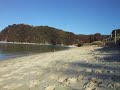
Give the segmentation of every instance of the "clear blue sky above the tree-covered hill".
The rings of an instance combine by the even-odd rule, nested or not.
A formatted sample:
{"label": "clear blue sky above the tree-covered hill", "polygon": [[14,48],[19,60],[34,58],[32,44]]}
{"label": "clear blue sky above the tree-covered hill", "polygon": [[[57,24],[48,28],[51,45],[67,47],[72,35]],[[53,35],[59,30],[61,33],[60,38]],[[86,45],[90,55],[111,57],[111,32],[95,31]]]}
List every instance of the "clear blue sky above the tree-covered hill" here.
{"label": "clear blue sky above the tree-covered hill", "polygon": [[19,23],[110,34],[120,28],[120,0],[0,0],[0,30]]}

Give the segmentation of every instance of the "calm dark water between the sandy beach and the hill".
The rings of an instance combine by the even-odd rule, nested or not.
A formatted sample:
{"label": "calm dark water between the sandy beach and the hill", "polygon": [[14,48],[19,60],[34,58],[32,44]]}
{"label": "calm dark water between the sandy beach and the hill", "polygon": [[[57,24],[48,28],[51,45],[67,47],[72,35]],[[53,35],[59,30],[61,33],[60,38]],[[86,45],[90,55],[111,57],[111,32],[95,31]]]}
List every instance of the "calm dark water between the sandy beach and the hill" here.
{"label": "calm dark water between the sandy beach and the hill", "polygon": [[54,45],[31,45],[31,44],[5,44],[0,43],[0,60],[4,60],[11,57],[53,52],[58,50],[64,50],[67,47],[54,46]]}

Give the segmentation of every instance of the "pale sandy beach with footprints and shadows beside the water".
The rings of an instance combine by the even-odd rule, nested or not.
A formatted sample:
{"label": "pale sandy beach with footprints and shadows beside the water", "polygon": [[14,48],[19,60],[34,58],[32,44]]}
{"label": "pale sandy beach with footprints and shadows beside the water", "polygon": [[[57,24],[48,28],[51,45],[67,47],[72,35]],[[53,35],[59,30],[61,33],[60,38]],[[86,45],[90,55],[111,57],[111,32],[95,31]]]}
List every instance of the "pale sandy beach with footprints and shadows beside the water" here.
{"label": "pale sandy beach with footprints and shadows beside the water", "polygon": [[120,48],[83,46],[0,61],[0,90],[120,90]]}

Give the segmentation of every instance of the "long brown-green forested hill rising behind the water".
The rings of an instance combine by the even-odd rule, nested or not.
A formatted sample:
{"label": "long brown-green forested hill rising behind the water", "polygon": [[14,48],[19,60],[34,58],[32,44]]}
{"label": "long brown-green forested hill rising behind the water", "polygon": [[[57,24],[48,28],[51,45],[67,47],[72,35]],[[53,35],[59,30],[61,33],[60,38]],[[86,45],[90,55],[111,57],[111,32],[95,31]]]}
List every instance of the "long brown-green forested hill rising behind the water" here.
{"label": "long brown-green forested hill rising behind the water", "polygon": [[107,36],[100,33],[94,35],[76,35],[48,26],[31,26],[26,24],[13,24],[0,33],[0,40],[7,42],[29,42],[44,44],[72,45],[80,42],[93,42],[102,40]]}

